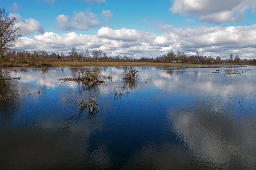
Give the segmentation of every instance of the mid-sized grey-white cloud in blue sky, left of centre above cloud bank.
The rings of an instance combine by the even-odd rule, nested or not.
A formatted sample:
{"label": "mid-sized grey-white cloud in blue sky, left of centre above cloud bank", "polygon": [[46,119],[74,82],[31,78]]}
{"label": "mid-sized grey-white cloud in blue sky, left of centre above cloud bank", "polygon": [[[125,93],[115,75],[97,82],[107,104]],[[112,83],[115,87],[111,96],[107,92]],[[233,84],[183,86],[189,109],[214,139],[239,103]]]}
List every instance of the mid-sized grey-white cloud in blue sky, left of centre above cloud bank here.
{"label": "mid-sized grey-white cloud in blue sky, left of centre above cloud bank", "polygon": [[71,19],[68,15],[61,14],[56,17],[57,23],[61,30],[88,30],[102,25],[102,22],[97,19],[97,14],[94,14],[90,9],[86,11],[75,12]]}

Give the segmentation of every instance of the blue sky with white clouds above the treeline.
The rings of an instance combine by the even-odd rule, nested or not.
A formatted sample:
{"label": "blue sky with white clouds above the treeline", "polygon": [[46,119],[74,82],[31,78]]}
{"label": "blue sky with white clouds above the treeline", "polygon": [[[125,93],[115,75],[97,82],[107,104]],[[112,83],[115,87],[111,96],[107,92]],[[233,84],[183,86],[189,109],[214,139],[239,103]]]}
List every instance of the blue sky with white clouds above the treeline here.
{"label": "blue sky with white clouds above the treeline", "polygon": [[22,27],[18,50],[256,57],[255,0],[4,0],[0,6]]}

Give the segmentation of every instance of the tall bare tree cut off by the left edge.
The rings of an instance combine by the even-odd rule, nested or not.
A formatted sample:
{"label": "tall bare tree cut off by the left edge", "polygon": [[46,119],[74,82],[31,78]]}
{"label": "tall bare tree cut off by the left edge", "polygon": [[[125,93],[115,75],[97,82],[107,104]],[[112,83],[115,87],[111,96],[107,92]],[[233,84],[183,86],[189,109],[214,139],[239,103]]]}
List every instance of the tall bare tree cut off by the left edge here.
{"label": "tall bare tree cut off by the left edge", "polygon": [[21,42],[21,27],[17,26],[18,22],[15,17],[10,17],[4,8],[0,8],[0,62],[5,54],[15,47],[17,41]]}

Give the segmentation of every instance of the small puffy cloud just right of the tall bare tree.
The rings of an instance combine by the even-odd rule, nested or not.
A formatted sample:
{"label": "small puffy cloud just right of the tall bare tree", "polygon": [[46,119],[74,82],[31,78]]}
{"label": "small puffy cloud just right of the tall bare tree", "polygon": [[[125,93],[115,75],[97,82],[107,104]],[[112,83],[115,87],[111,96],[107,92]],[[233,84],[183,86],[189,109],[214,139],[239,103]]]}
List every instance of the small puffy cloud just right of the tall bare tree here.
{"label": "small puffy cloud just right of the tall bare tree", "polygon": [[41,27],[39,22],[35,20],[34,18],[25,19],[25,22],[22,22],[23,18],[15,13],[15,14],[9,14],[10,16],[16,17],[19,21],[17,23],[18,27],[22,27],[21,33],[22,35],[29,35],[33,32],[39,32],[40,34],[44,33],[44,29]]}

